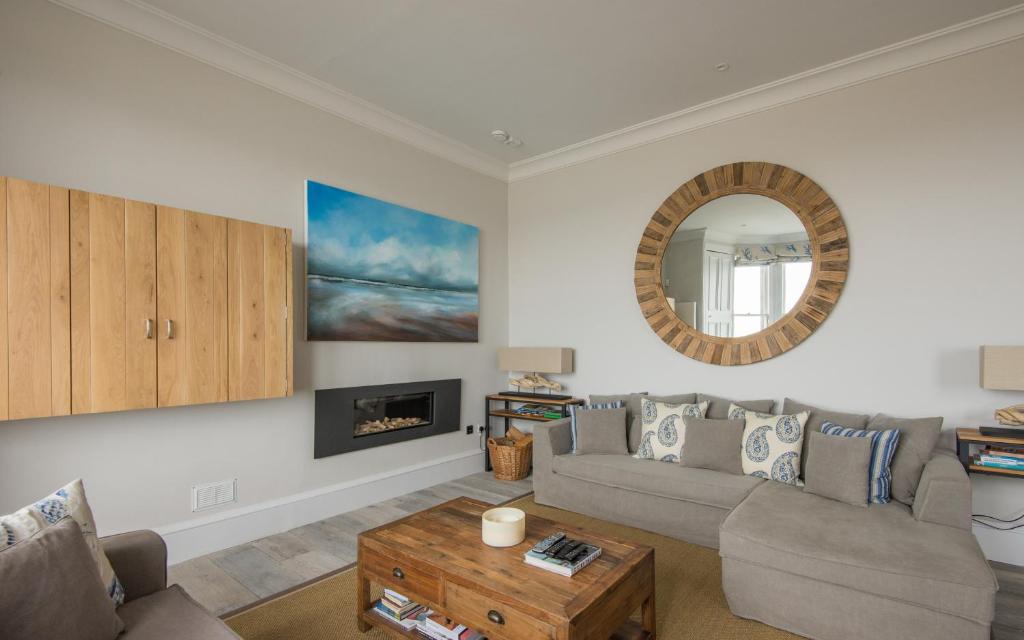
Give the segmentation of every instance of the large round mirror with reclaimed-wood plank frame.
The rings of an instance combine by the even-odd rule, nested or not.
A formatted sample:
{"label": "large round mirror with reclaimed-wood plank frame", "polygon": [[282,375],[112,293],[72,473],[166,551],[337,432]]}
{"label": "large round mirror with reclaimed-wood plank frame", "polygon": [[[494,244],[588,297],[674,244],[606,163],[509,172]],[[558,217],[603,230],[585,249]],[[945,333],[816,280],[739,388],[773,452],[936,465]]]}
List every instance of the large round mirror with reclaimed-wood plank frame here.
{"label": "large round mirror with reclaimed-wood plank frame", "polygon": [[[701,228],[687,228],[687,218],[698,210],[715,213],[723,230],[712,233],[703,221],[696,225]],[[745,214],[772,221],[768,230],[778,242],[768,248],[770,262],[735,259],[745,229],[731,221]],[[804,244],[810,246],[809,260]],[[708,267],[700,266],[705,258]],[[637,247],[636,297],[651,330],[671,348],[712,365],[749,365],[784,353],[814,333],[839,300],[849,260],[846,225],[824,189],[781,165],[738,162],[694,176],[654,212]],[[696,264],[700,278],[684,264]],[[769,290],[765,296],[757,286],[765,276],[790,283],[792,290],[783,285],[775,288],[781,295]],[[719,299],[703,291],[730,293]],[[732,294],[739,292],[749,295],[743,308],[733,308]],[[697,326],[673,310],[669,295],[677,309],[697,302]]]}

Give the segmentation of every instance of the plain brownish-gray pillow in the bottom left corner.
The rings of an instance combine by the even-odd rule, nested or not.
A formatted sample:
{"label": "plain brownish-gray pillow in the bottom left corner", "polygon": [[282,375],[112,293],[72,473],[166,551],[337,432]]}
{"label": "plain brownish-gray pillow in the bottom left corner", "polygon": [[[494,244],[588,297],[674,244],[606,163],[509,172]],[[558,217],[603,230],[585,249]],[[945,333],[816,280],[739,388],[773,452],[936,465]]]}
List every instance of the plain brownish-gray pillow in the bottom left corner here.
{"label": "plain brownish-gray pillow in the bottom left corner", "polygon": [[0,638],[113,640],[124,629],[70,516],[0,551]]}

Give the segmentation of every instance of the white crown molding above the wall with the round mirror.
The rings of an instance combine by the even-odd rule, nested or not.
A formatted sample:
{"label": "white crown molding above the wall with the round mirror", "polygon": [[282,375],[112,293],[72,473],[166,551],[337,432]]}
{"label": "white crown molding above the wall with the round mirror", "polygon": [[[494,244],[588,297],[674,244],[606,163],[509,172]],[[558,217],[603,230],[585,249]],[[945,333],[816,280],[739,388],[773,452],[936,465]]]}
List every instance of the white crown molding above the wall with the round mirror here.
{"label": "white crown molding above the wall with the round mirror", "polygon": [[509,166],[509,181],[845,89],[1024,37],[1024,4],[696,104]]}

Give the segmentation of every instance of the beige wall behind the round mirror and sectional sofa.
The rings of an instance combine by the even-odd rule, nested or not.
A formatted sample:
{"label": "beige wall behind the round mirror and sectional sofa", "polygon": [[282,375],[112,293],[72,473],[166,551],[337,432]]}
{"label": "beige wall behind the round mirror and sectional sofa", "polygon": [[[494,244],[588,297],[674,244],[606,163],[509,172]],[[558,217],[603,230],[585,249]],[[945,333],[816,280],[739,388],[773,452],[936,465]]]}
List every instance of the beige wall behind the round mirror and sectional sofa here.
{"label": "beige wall behind the round mirror and sectional sofa", "polygon": [[[512,344],[575,348],[582,393],[707,391],[837,409],[991,422],[1024,394],[978,384],[978,346],[1024,343],[1024,41],[514,182]],[[773,360],[683,357],[644,322],[637,243],[693,175],[765,160],[802,171],[841,207],[850,280],[833,315]],[[571,242],[537,242],[537,229]],[[965,268],[965,264],[969,268]],[[530,299],[558,300],[539,312]],[[975,511],[1018,515],[1021,484],[976,478]],[[979,534],[1024,564],[1024,540]]]}

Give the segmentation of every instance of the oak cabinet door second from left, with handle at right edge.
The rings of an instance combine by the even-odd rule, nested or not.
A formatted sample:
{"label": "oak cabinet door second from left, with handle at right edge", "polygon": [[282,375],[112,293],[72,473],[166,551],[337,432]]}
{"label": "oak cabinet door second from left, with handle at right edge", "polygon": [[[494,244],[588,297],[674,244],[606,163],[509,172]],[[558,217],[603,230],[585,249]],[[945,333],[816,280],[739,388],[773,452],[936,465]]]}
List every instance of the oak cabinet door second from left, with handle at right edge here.
{"label": "oak cabinet door second from left, with handle at right edge", "polygon": [[74,191],[73,413],[157,403],[156,208]]}

